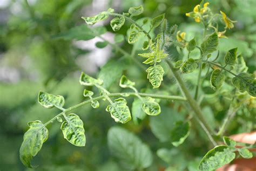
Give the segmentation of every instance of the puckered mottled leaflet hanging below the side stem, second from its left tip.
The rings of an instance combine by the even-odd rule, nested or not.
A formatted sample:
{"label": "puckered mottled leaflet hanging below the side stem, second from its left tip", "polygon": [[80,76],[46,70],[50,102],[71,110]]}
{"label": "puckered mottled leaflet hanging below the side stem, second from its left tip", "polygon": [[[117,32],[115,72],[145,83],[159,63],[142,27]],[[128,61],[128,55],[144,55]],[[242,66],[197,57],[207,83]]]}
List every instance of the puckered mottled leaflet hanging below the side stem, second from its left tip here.
{"label": "puckered mottled leaflet hanging below the side stem, second from its left tip", "polygon": [[69,114],[65,117],[66,121],[62,122],[64,138],[72,145],[82,147],[85,146],[86,138],[84,134],[84,123],[76,114]]}

